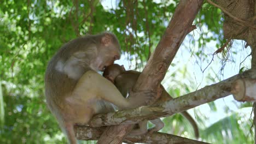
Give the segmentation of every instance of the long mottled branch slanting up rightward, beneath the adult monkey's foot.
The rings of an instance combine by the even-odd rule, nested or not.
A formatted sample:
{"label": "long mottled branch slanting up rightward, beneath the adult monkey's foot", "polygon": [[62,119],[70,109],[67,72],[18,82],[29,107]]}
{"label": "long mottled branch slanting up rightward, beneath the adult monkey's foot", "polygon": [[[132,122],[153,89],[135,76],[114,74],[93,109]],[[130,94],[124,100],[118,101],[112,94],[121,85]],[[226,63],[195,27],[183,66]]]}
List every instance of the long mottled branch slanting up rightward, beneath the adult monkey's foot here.
{"label": "long mottled branch slanting up rightward, beneath the adult monkey's foot", "polygon": [[245,71],[214,85],[206,86],[195,92],[185,94],[182,97],[166,101],[159,105],[141,106],[134,110],[99,114],[91,119],[89,125],[90,127],[102,127],[106,125],[131,124],[141,122],[145,119],[171,116],[174,113],[182,112],[230,95],[232,85],[235,81],[246,78],[255,79],[256,70]]}

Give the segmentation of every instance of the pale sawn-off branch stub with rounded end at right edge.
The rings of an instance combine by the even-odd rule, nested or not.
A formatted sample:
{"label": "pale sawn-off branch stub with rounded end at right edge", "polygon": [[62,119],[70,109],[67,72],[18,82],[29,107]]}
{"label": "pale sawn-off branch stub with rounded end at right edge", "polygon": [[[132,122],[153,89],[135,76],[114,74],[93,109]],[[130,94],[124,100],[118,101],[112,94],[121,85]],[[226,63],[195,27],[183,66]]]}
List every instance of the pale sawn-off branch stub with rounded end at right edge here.
{"label": "pale sawn-off branch stub with rounded end at right edge", "polygon": [[256,79],[239,79],[232,84],[231,93],[237,101],[256,102]]}

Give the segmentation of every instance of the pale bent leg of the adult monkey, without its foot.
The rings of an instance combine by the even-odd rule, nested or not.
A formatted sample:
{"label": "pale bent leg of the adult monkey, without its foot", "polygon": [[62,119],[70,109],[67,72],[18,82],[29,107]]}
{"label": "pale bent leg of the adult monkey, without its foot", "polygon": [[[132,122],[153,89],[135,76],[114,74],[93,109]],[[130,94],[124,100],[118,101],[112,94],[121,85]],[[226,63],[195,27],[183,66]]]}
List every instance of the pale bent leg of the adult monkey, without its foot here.
{"label": "pale bent leg of the adult monkey, without its foot", "polygon": [[132,106],[113,83],[92,70],[87,71],[79,79],[73,93],[77,99],[89,103],[90,101],[103,99],[123,109]]}

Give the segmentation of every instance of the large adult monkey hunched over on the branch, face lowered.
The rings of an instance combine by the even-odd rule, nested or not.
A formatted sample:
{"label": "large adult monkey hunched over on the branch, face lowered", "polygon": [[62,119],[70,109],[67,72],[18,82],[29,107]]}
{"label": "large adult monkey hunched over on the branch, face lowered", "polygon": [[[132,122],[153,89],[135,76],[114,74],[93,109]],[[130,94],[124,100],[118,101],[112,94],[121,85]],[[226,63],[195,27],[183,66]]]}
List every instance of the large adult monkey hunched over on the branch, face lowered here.
{"label": "large adult monkey hunched over on the branch, face lowered", "polygon": [[[113,83],[97,70],[120,58],[120,45],[112,33],[88,35],[69,41],[51,58],[45,72],[46,103],[70,143],[75,144],[74,125],[84,125],[96,113],[134,108],[139,101],[125,99]],[[150,99],[155,93],[142,94]],[[137,97],[139,98],[139,97]],[[110,102],[110,103],[108,103]]]}

